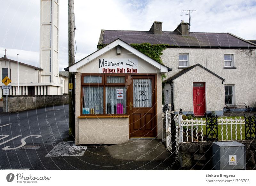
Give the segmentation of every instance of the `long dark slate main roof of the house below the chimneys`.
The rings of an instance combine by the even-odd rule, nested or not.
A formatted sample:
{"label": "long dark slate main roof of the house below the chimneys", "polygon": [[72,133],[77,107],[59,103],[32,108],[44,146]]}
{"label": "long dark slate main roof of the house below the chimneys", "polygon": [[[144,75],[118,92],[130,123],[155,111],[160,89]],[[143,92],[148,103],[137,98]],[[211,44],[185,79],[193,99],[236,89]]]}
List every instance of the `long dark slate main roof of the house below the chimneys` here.
{"label": "long dark slate main roof of the house below the chimneys", "polygon": [[98,44],[108,44],[117,38],[128,44],[169,44],[169,47],[181,48],[256,48],[256,44],[231,33],[190,32],[189,35],[180,35],[178,32],[153,34],[152,31],[130,30],[101,30]]}

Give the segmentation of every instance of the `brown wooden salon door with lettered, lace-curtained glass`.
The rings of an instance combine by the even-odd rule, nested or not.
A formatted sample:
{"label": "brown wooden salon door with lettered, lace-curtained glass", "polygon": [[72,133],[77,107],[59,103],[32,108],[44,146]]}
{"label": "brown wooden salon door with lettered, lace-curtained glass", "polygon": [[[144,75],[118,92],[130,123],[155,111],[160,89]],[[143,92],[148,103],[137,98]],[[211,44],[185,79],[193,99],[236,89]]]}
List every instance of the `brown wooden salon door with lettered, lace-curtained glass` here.
{"label": "brown wooden salon door with lettered, lace-curtained glass", "polygon": [[132,76],[130,137],[156,137],[155,76]]}

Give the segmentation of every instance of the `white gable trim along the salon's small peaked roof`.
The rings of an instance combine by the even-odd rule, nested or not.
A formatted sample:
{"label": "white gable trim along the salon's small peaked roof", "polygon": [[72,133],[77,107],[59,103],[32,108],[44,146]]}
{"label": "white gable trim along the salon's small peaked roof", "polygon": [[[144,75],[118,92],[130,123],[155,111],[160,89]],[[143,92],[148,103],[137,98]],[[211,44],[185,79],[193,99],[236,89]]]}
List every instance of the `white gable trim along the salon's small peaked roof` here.
{"label": "white gable trim along the salon's small peaked roof", "polygon": [[147,55],[141,53],[139,50],[133,48],[131,45],[125,43],[121,39],[116,39],[116,40],[112,41],[111,43],[109,43],[107,46],[103,47],[102,49],[96,50],[95,52],[93,52],[89,56],[86,56],[85,58],[81,59],[80,61],[77,61],[74,65],[69,66],[69,70],[68,71],[69,72],[77,72],[77,69],[79,69],[82,66],[90,63],[95,58],[98,58],[99,56],[101,56],[102,54],[108,52],[109,50],[113,49],[116,46],[121,46],[124,49],[130,51],[132,54],[136,55],[137,57],[145,60],[150,65],[156,67],[159,70],[160,73],[168,72],[168,69],[170,71],[169,67],[161,65],[160,63],[158,63],[154,59],[149,58]]}

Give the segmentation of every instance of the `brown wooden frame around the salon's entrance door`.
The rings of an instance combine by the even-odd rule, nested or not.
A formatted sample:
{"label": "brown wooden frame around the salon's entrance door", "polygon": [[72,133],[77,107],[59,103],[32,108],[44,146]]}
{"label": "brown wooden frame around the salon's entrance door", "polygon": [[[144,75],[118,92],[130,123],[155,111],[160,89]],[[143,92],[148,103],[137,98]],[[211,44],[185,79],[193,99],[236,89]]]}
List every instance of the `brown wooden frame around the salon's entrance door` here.
{"label": "brown wooden frame around the salon's entrance door", "polygon": [[[129,107],[131,106],[130,103],[132,102],[132,105],[133,105],[133,97],[131,97],[131,91],[133,91],[133,78],[132,77],[136,77],[136,78],[145,78],[145,77],[148,77],[148,76],[154,76],[153,78],[155,79],[155,89],[153,89],[153,84],[152,84],[152,90],[155,91],[155,97],[154,97],[154,101],[155,101],[155,104],[153,102],[153,99],[152,99],[152,105],[154,104],[155,106],[155,123],[156,123],[156,130],[155,130],[155,138],[157,137],[158,135],[158,132],[157,132],[157,74],[129,74],[128,76],[128,79],[130,79],[132,81],[132,83],[129,85],[129,88],[128,88],[128,93],[127,93],[127,103],[129,105]],[[132,85],[132,86],[131,86]],[[131,90],[132,89],[132,90]],[[152,97],[153,98],[153,97]],[[131,117],[132,117],[132,113],[131,113],[131,110],[130,109],[127,109],[129,110],[129,139],[131,138]]]}

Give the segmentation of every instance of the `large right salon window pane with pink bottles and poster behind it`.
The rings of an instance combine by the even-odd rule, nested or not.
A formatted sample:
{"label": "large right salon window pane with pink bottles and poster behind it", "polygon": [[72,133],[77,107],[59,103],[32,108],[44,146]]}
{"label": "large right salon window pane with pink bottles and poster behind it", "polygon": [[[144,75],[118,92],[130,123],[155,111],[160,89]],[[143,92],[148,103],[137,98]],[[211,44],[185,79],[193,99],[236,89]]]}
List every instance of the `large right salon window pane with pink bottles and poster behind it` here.
{"label": "large right salon window pane with pink bottles and poster behind it", "polygon": [[125,114],[126,111],[125,87],[106,87],[106,113]]}

